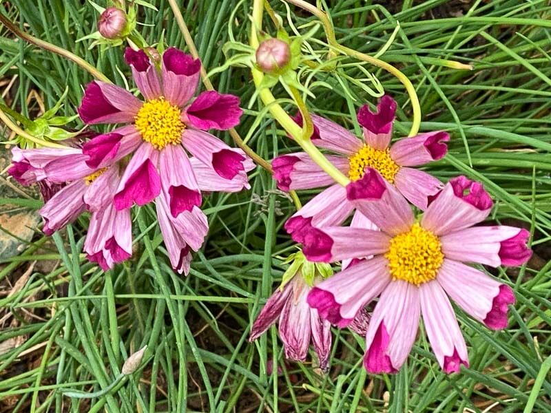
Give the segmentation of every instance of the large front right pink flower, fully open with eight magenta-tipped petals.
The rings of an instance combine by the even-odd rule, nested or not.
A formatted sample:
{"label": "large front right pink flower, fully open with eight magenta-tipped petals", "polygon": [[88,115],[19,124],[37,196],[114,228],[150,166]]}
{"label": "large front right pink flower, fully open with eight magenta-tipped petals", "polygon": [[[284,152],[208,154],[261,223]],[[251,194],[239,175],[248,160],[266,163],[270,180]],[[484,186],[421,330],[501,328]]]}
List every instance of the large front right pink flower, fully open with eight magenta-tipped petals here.
{"label": "large front right pink flower, fully open with eight magenta-tipped petals", "polygon": [[423,316],[427,336],[446,373],[468,366],[466,343],[450,299],[488,328],[507,326],[514,293],[466,264],[521,265],[532,251],[526,229],[473,226],[488,217],[490,195],[479,182],[450,180],[415,220],[410,205],[375,169],[346,187],[346,198],[380,228],[331,226],[318,230],[321,244],[306,240],[311,261],[371,257],[324,280],[307,301],[343,327],[379,297],[366,332],[364,366],[369,372],[397,372],[408,357]]}

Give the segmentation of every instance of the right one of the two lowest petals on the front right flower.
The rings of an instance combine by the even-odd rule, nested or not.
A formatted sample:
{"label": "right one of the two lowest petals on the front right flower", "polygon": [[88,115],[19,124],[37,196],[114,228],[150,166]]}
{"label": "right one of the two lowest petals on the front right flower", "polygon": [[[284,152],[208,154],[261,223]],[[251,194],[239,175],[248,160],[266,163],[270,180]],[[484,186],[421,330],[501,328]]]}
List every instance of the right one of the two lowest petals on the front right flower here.
{"label": "right one of the two lowest petals on the front right flower", "polygon": [[426,334],[436,359],[444,372],[458,373],[460,365],[468,367],[469,362],[465,339],[450,300],[435,280],[419,286],[419,293]]}

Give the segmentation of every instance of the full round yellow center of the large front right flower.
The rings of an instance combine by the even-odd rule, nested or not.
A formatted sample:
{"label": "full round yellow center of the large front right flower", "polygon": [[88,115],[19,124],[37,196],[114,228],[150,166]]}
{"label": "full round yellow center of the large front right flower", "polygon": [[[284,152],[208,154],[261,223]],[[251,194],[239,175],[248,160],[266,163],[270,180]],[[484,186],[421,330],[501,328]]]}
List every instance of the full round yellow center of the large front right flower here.
{"label": "full round yellow center of the large front right flower", "polygon": [[416,286],[435,279],[444,262],[440,240],[419,223],[393,237],[384,256],[393,279],[403,279]]}

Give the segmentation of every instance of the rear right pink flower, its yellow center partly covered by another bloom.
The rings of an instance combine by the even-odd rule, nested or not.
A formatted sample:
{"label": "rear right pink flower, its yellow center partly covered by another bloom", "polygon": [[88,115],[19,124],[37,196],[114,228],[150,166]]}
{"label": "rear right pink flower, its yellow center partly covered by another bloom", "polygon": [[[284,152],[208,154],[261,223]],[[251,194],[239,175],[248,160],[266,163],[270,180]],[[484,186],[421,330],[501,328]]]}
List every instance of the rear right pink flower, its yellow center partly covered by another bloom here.
{"label": "rear right pink flower, its yellow center partly covered by another bloom", "polygon": [[[327,158],[351,181],[360,180],[366,168],[377,169],[410,202],[425,210],[428,199],[440,191],[442,184],[413,167],[443,158],[450,136],[444,131],[428,132],[402,138],[389,147],[395,112],[396,102],[388,95],[381,98],[376,113],[364,105],[357,114],[364,129],[363,140],[336,123],[313,115],[311,139],[318,147],[337,153]],[[295,121],[302,125],[300,112]],[[285,224],[296,242],[312,236],[309,233],[315,227],[342,223],[353,211],[354,205],[346,198],[346,190],[335,184],[306,153],[279,156],[272,161],[272,167],[278,187],[283,191],[329,186]]]}

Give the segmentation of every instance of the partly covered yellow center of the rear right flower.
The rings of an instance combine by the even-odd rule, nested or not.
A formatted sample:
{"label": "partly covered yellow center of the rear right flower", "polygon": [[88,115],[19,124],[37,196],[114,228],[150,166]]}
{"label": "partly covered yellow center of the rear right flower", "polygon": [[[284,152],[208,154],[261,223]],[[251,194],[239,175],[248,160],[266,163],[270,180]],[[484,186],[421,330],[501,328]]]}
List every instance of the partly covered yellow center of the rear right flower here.
{"label": "partly covered yellow center of the rear right flower", "polygon": [[364,145],[362,149],[351,156],[349,164],[349,178],[352,181],[362,179],[366,167],[371,167],[377,169],[384,179],[393,184],[394,177],[400,169],[391,158],[391,151],[389,149],[380,151],[368,145]]}

